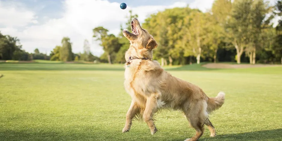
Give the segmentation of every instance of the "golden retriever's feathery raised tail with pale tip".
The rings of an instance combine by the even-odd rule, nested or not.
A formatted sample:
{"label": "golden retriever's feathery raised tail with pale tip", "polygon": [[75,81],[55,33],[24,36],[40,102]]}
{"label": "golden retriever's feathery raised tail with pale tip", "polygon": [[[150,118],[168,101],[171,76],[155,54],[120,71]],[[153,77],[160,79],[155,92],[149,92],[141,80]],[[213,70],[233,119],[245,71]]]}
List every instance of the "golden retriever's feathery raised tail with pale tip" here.
{"label": "golden retriever's feathery raised tail with pale tip", "polygon": [[217,94],[217,97],[209,98],[208,107],[207,107],[208,113],[211,113],[212,111],[219,109],[224,104],[224,100],[225,100],[225,93],[223,91],[220,91]]}

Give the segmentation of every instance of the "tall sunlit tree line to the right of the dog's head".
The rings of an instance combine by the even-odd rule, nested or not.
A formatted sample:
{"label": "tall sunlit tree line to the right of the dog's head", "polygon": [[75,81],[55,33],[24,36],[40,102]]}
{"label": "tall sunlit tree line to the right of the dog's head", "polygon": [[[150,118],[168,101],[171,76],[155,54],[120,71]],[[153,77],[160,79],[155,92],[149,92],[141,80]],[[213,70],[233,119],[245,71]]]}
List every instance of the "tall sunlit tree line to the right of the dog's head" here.
{"label": "tall sunlit tree line to the right of the dog's head", "polygon": [[263,0],[216,0],[206,13],[185,7],[153,14],[143,28],[161,46],[155,58],[170,64],[275,63],[282,61],[282,22],[273,27],[271,20],[281,11],[281,1],[272,7]]}

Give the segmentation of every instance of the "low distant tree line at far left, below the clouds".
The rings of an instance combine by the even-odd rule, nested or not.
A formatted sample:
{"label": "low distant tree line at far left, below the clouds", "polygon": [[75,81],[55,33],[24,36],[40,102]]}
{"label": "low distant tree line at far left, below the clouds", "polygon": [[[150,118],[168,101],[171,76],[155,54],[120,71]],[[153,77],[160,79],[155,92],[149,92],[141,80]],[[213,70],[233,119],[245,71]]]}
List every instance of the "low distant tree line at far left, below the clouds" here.
{"label": "low distant tree line at far left, below the clouds", "polygon": [[70,38],[64,37],[61,40],[61,46],[55,46],[55,48],[47,53],[39,52],[36,48],[33,53],[26,52],[22,49],[22,45],[19,43],[19,39],[11,37],[10,35],[2,35],[0,32],[0,60],[19,60],[19,61],[30,61],[30,60],[54,60],[54,61],[94,61],[99,60],[97,56],[94,56],[90,52],[90,44],[88,40],[84,41],[84,52],[73,53],[71,47]]}

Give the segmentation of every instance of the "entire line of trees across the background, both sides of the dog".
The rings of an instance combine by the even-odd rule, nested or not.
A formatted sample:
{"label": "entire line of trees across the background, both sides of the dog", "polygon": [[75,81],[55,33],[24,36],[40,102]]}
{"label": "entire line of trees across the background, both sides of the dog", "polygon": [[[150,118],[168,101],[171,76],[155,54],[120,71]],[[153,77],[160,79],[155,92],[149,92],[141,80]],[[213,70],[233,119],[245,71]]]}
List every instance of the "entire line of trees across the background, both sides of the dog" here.
{"label": "entire line of trees across the background, both sides of the dog", "polygon": [[[207,12],[187,6],[152,14],[142,27],[158,42],[154,59],[162,65],[199,64],[202,61],[281,63],[282,21],[274,27],[271,20],[275,17],[282,17],[281,1],[270,6],[263,0],[215,0]],[[100,57],[92,55],[87,40],[84,52],[75,54],[70,38],[64,37],[61,46],[55,46],[47,57],[39,51],[31,55],[17,44],[19,39],[0,34],[0,59],[26,60],[37,55],[50,60],[125,63],[129,41],[123,37],[122,30],[129,27],[133,18],[138,15],[129,11],[128,21],[120,25],[117,36],[109,34],[102,26],[93,29],[93,38],[104,50]]]}

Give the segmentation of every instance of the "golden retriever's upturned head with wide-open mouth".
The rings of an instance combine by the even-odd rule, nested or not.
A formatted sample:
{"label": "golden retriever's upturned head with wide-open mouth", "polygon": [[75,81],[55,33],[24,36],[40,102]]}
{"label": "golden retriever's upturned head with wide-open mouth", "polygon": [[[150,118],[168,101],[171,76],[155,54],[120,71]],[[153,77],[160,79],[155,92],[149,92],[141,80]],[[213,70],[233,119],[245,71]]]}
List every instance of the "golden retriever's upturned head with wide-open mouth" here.
{"label": "golden retriever's upturned head with wide-open mouth", "polygon": [[135,18],[131,21],[132,33],[127,30],[123,31],[123,35],[130,41],[131,45],[136,49],[152,50],[158,47],[157,42],[145,29],[140,26],[139,21]]}

